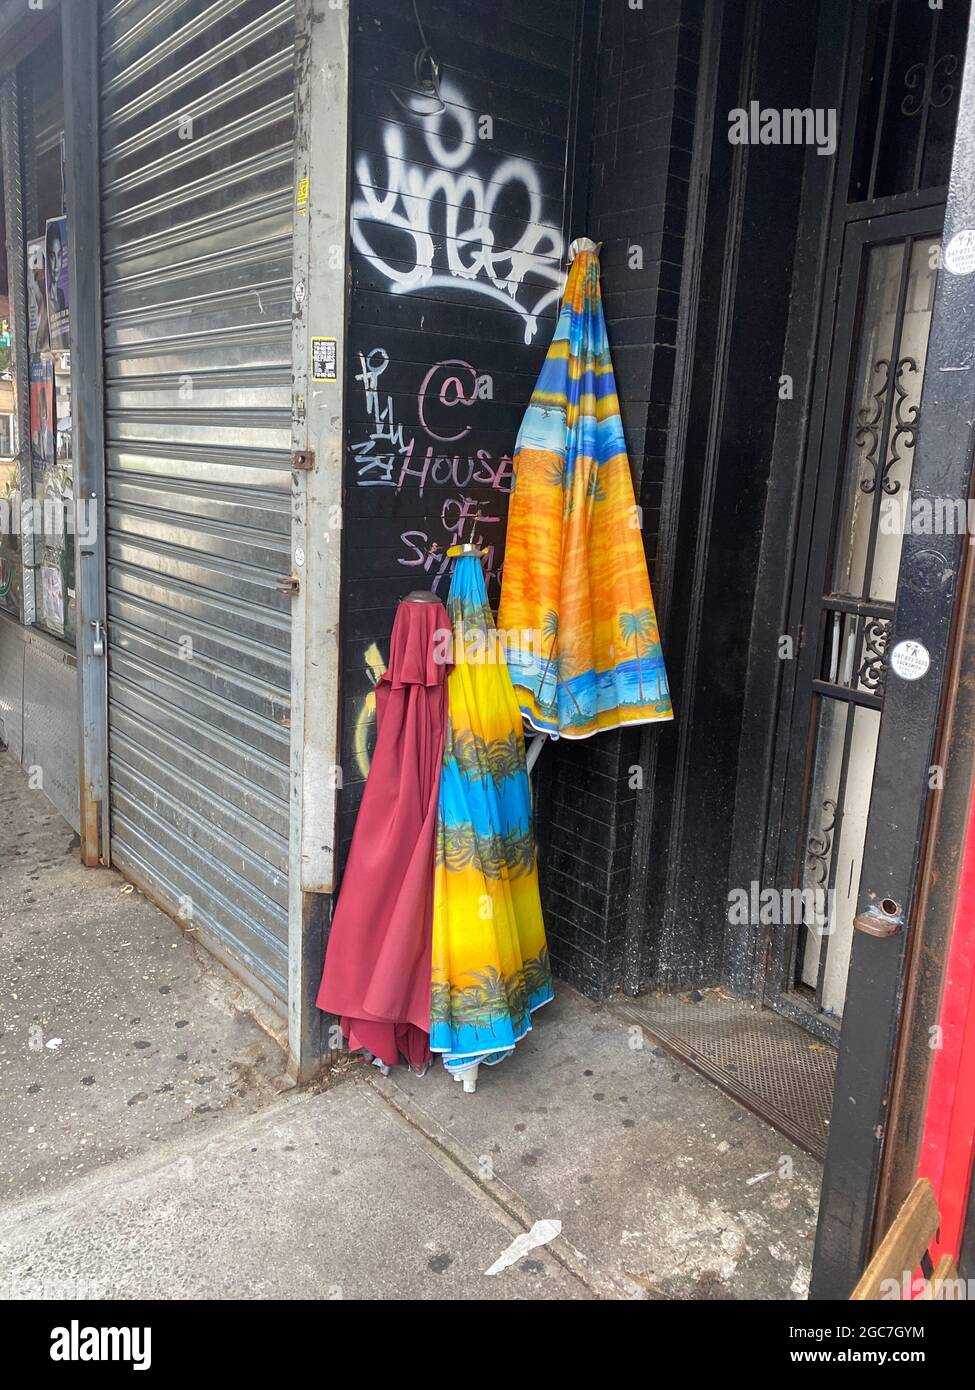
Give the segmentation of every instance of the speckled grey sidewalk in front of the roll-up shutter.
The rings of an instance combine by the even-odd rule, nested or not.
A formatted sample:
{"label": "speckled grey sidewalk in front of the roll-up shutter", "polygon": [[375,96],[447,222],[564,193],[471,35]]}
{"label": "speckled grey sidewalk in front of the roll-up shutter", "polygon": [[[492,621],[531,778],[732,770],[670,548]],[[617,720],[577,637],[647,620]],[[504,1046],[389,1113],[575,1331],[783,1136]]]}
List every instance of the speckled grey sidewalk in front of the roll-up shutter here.
{"label": "speckled grey sidewalk in front of the roll-up shutter", "polygon": [[[0,753],[0,1198],[275,1098],[256,1001]],[[267,1020],[266,1020],[267,1022]]]}

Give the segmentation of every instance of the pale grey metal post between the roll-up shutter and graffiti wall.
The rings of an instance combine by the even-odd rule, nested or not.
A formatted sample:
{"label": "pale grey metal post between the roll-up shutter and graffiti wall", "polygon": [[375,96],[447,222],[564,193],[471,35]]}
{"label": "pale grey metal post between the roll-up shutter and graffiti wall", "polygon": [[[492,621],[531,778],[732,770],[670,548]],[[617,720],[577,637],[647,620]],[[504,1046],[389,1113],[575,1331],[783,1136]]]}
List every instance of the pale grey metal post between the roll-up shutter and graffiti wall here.
{"label": "pale grey metal post between the roll-up shutter and graffiti wall", "polygon": [[[338,1044],[317,1008],[338,867],[345,360],[349,324],[349,7],[295,6],[288,1070]],[[316,334],[334,363],[316,375]],[[323,339],[319,339],[321,342]]]}

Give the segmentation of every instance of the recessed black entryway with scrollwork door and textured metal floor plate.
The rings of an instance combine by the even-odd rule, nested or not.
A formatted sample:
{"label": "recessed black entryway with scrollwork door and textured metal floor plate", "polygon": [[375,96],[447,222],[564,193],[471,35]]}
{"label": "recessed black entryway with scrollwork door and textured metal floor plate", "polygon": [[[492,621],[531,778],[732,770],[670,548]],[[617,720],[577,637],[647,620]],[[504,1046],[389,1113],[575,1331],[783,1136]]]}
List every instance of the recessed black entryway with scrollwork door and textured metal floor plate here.
{"label": "recessed black entryway with scrollwork door and textured metal floor plate", "polygon": [[[851,10],[822,0],[808,88],[793,74],[789,100],[833,111],[839,140],[829,160],[809,149],[798,171],[786,150],[752,146],[739,165],[727,157],[725,111],[779,100],[777,70],[793,51],[776,26],[794,14],[762,4],[748,14],[752,28],[737,50],[737,11],[726,11],[720,36],[705,171],[708,295],[684,367],[687,453],[705,459],[707,486],[722,506],[688,527],[707,632],[693,695],[704,703],[705,692],[707,717],[687,716],[679,787],[694,784],[684,771],[691,764],[704,773],[698,785],[730,787],[733,834],[725,876],[708,876],[697,833],[672,834],[658,891],[663,929],[644,947],[644,977],[666,992],[627,1008],[668,1048],[822,1156],[861,937],[861,866],[883,840],[878,810],[889,784],[872,794],[968,8],[871,0]],[[782,325],[769,317],[772,257],[789,268]],[[769,403],[768,378],[787,382],[777,403]],[[707,541],[700,514],[708,516]],[[729,617],[743,594],[747,613]],[[690,600],[686,612],[697,621]],[[669,620],[683,623],[684,609],[675,603]],[[707,664],[709,651],[718,655]],[[740,720],[722,721],[726,689],[739,688]],[[705,724],[719,728],[709,741]],[[794,915],[764,919],[750,906],[747,920],[734,920],[732,892],[751,903],[752,890],[772,890]],[[907,901],[899,894],[900,906]],[[690,952],[670,949],[668,933],[701,942],[687,969]],[[878,1027],[878,1054],[889,1045]]]}

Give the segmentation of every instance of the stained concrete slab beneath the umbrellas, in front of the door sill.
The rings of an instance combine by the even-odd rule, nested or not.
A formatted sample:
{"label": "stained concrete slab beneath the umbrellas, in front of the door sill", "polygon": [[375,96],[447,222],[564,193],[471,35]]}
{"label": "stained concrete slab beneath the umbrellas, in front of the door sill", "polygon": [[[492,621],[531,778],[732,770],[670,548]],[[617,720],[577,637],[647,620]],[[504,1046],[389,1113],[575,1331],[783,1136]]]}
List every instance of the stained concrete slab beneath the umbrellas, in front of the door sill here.
{"label": "stained concrete slab beneath the umbrellas, in front of the door sill", "polygon": [[374,1084],[524,1225],[561,1220],[605,1297],[805,1297],[819,1165],[612,1005],[562,987],[476,1095],[440,1068]]}

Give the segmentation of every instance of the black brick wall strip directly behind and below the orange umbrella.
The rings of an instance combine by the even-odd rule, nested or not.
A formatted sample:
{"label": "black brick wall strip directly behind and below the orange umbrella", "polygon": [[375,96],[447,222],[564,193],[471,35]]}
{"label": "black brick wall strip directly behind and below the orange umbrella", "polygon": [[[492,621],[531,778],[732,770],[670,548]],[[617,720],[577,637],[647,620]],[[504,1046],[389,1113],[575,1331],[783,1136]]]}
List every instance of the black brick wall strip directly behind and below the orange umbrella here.
{"label": "black brick wall strip directly behind and below the orange umbrella", "polygon": [[[663,655],[675,694],[656,541],[673,396],[677,304],[694,133],[702,0],[654,0],[643,10],[604,3],[588,199],[590,235],[602,242],[602,295],[616,385]],[[677,720],[682,717],[676,702]],[[654,795],[659,745],[675,724],[601,734],[545,748],[538,762],[538,838],[545,922],[563,979],[595,997],[626,983],[627,947],[651,922],[633,901],[634,819]]]}

